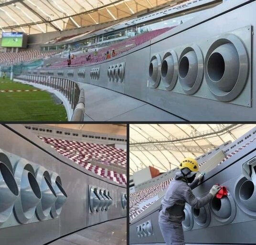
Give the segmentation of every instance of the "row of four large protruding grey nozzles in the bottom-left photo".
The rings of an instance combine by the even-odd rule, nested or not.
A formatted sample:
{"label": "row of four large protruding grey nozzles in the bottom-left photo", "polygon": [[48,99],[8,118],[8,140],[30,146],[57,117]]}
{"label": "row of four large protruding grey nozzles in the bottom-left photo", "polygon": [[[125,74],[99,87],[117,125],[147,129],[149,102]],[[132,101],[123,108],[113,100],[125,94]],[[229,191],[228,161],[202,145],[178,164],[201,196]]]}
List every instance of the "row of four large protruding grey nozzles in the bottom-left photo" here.
{"label": "row of four large protruding grey nozzles in the bottom-left photo", "polygon": [[26,224],[36,214],[42,221],[61,214],[67,194],[58,174],[44,167],[36,170],[25,159],[14,167],[5,153],[0,153],[0,224],[14,212],[17,221]]}

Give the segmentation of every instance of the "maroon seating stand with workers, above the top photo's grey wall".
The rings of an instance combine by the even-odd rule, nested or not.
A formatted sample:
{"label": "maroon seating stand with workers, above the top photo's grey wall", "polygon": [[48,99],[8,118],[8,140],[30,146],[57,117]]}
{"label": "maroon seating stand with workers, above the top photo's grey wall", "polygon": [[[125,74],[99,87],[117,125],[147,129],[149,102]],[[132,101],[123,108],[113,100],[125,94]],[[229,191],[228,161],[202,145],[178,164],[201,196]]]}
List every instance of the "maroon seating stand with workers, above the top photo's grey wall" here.
{"label": "maroon seating stand with workers, above the top photo's grey wall", "polygon": [[[94,55],[93,52],[88,52],[86,54],[80,54],[77,55],[75,57],[75,59],[73,59],[71,61],[71,65],[82,65],[82,64],[91,64],[91,63],[97,63],[100,61],[105,60],[105,53],[107,53],[107,51],[112,51],[113,49],[115,50],[116,54],[121,54],[123,52],[126,52],[134,47],[137,47],[139,45],[141,45],[142,43],[149,41],[157,36],[159,36],[160,34],[171,30],[173,27],[166,27],[166,28],[162,28],[162,29],[158,29],[155,31],[149,31],[149,32],[145,32],[142,34],[139,34],[135,37],[132,38],[128,38],[124,41],[119,41],[117,43],[114,43],[110,46],[104,47],[100,50],[98,50],[98,54],[97,56]],[[86,61],[86,57],[91,54],[91,60],[90,61]],[[62,62],[57,62],[55,64],[53,64],[52,67],[63,67],[63,66],[67,66],[67,61],[62,61]]]}

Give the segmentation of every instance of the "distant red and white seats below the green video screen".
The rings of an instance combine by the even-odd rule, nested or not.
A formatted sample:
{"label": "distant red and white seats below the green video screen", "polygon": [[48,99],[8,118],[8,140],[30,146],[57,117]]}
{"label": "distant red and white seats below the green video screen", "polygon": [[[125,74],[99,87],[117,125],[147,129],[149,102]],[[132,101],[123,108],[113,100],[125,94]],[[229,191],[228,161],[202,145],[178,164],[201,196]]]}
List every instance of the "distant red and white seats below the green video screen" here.
{"label": "distant red and white seats below the green video screen", "polygon": [[0,63],[6,65],[15,64],[18,62],[33,61],[37,59],[43,59],[48,56],[55,54],[57,51],[41,52],[39,50],[26,50],[17,53],[14,52],[3,52],[0,53]]}

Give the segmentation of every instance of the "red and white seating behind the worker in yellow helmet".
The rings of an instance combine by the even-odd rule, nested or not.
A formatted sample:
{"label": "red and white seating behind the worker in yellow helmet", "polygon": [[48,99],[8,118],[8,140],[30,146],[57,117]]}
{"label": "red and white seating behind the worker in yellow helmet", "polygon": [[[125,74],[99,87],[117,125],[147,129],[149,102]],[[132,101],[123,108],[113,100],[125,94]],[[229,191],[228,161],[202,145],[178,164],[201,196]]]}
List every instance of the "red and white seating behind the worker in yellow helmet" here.
{"label": "red and white seating behind the worker in yellow helmet", "polygon": [[[218,165],[220,165],[221,163],[224,163],[227,159],[229,159],[230,157],[234,156],[236,153],[238,153],[239,151],[244,149],[246,146],[248,146],[250,143],[254,142],[255,140],[256,140],[256,138],[251,140],[251,141],[249,141],[248,143],[244,144],[243,146],[239,147],[234,152],[228,154]],[[199,166],[202,166],[205,163],[207,163],[207,161],[201,163]],[[135,199],[130,201],[130,204],[129,204],[130,205],[130,213],[129,213],[130,221],[133,220],[135,217],[137,217],[139,214],[141,214],[150,205],[155,203],[155,201],[151,202],[149,204],[144,205],[142,208],[139,208],[139,204],[142,203],[142,202],[145,202],[149,198],[155,196],[160,191],[165,190],[169,186],[171,180],[173,180],[173,178],[170,179],[170,180],[161,182],[159,184],[152,185],[152,186],[150,186],[148,188],[139,190],[138,192],[134,192],[134,193],[130,194],[130,200],[132,200],[132,197],[135,196]]]}

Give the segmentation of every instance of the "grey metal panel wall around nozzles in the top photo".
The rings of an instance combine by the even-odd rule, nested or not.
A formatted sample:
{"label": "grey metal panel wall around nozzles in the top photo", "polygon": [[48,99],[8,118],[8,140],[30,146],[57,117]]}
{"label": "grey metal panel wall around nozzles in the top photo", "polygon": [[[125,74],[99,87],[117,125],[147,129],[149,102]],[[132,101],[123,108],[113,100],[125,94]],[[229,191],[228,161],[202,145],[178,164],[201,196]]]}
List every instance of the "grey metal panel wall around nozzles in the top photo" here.
{"label": "grey metal panel wall around nozzles in the top photo", "polygon": [[[255,39],[252,39],[251,30],[251,27],[253,28],[256,25],[256,19],[254,18],[255,7],[256,2],[252,0],[227,1],[211,9],[206,14],[153,39],[151,46],[147,46],[149,44],[145,43],[139,49],[128,51],[119,58],[85,66],[84,79],[77,78],[76,75],[73,78],[69,77],[69,79],[125,93],[190,121],[219,121],[220,119],[237,121],[245,118],[247,121],[256,120],[256,101],[252,100],[256,93],[256,88],[251,87],[251,82],[256,80],[255,72],[251,72],[253,70],[252,64],[255,62],[256,57],[254,55],[255,49],[251,49],[256,43]],[[237,20],[237,16],[246,16],[246,18]],[[237,29],[241,30],[235,31]],[[246,30],[247,34],[245,34]],[[221,102],[218,98],[215,98],[206,84],[205,74],[203,75],[201,88],[192,95],[186,95],[185,92],[181,93],[180,79],[178,79],[173,91],[148,88],[149,63],[153,54],[160,53],[163,55],[165,51],[178,49],[177,53],[181,55],[182,47],[198,45],[204,62],[207,49],[210,47],[209,42],[213,42],[216,36],[227,33],[234,33],[240,38],[248,55],[248,76],[242,79],[242,83],[245,82],[245,88],[235,99],[229,102]],[[181,57],[178,56],[177,58],[179,61]],[[125,62],[124,82],[108,82],[107,69],[109,65],[121,62]],[[243,66],[242,63],[240,65]],[[98,80],[90,78],[91,69],[96,67],[100,68]],[[202,64],[199,67],[201,69]],[[66,70],[74,70],[76,74],[80,68],[62,69],[64,70],[64,78],[66,78]],[[58,76],[58,69],[50,70],[54,71],[54,76]],[[161,86],[160,83],[160,88]],[[241,85],[240,90],[242,90],[242,87],[243,85]],[[252,97],[250,97],[251,95]],[[237,113],[238,111],[239,113]]]}

